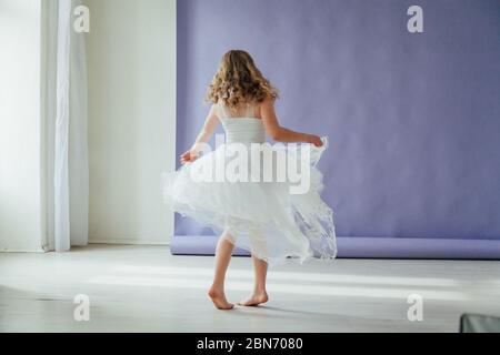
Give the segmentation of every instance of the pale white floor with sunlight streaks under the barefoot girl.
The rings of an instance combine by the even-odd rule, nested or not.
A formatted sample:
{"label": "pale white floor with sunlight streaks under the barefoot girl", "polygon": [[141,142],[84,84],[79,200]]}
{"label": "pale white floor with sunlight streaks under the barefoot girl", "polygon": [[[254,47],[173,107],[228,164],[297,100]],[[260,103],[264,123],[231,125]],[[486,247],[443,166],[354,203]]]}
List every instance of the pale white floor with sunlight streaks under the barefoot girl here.
{"label": "pale white floor with sunlight streaks under the barefoot girl", "polygon": [[[0,254],[1,332],[457,332],[463,312],[500,315],[500,262],[337,260],[272,270],[271,301],[216,311],[212,257],[162,246],[92,245],[67,254]],[[252,284],[234,258],[228,297]],[[90,322],[73,298],[90,297]],[[408,296],[423,298],[410,322]]]}

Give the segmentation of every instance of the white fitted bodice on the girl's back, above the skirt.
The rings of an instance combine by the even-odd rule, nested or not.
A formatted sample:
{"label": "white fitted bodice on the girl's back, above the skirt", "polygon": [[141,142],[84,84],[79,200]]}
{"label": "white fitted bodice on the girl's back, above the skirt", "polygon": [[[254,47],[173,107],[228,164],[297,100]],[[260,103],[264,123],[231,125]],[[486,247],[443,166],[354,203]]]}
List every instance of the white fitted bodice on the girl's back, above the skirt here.
{"label": "white fitted bodice on the girl's back, above the skirt", "polygon": [[219,104],[219,119],[226,132],[226,143],[264,143],[266,129],[262,120],[256,118],[254,106],[231,113]]}

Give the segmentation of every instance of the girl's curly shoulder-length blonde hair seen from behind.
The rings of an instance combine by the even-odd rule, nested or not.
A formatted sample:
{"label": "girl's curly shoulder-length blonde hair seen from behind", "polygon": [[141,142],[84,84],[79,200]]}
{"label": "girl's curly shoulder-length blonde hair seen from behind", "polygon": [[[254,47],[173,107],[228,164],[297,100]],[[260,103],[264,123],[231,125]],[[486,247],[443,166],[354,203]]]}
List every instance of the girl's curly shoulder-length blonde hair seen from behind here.
{"label": "girl's curly shoulder-length blonde hair seen from behind", "polygon": [[221,102],[234,109],[240,104],[262,102],[268,98],[278,99],[278,90],[262,75],[252,57],[242,50],[227,52],[208,88],[207,101]]}

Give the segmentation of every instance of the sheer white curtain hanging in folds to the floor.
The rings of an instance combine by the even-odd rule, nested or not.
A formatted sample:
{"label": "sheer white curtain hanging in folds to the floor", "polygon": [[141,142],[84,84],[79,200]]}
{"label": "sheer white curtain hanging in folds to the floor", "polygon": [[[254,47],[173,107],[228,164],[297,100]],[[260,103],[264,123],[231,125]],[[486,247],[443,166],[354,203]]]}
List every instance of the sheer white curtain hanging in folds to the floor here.
{"label": "sheer white curtain hanging in folds to the floor", "polygon": [[88,243],[86,33],[73,30],[81,0],[47,1],[47,226],[46,248]]}

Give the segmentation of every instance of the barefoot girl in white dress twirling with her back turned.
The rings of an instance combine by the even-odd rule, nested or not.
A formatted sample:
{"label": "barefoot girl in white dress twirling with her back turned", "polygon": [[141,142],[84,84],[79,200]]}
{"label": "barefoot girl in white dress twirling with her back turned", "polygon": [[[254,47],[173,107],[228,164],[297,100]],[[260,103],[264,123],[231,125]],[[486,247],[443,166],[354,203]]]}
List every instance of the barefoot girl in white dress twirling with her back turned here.
{"label": "barefoot girl in white dress twirling with her back turned", "polygon": [[[322,175],[316,168],[327,141],[280,125],[274,113],[278,92],[246,51],[231,50],[223,55],[207,99],[212,102],[210,113],[194,144],[181,155],[183,166],[168,176],[166,197],[174,211],[220,232],[214,278],[209,290],[214,306],[219,310],[234,306],[226,298],[224,277],[236,245],[251,252],[254,267],[253,293],[239,305],[257,306],[268,302],[268,264],[282,263],[287,257],[303,262],[313,256],[313,251],[321,257],[336,256],[332,211],[320,197]],[[200,156],[219,123],[226,132],[226,144]],[[290,182],[197,179],[207,166],[216,172],[220,170],[218,159],[233,156],[231,144],[266,145],[266,133],[278,142],[310,144],[308,192],[291,194]],[[276,153],[283,152],[269,144],[266,146]],[[284,152],[289,159],[302,159],[297,151]],[[249,162],[250,175],[262,176],[260,165],[250,158],[246,162]]]}

